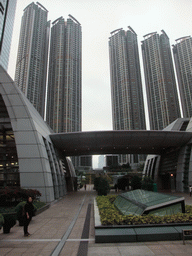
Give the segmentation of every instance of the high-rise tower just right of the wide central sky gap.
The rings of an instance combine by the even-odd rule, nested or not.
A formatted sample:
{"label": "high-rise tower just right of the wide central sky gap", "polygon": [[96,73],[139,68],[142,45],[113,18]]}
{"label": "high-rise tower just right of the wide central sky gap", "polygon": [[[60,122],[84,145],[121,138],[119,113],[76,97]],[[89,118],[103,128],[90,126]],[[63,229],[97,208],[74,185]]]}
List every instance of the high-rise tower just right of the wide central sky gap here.
{"label": "high-rise tower just right of the wide central sky gap", "polygon": [[[137,34],[131,27],[111,32],[109,57],[113,129],[145,130]],[[121,163],[128,161],[120,159]]]}

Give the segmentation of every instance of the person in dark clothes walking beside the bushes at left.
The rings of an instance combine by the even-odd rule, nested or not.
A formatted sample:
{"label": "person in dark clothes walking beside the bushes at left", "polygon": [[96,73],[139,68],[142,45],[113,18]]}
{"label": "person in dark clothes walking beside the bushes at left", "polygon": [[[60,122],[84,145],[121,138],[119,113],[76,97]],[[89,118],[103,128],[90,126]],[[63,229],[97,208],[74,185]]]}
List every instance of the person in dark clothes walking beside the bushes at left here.
{"label": "person in dark clothes walking beside the bushes at left", "polygon": [[34,206],[32,197],[27,198],[27,203],[24,206],[24,236],[30,236],[28,232],[29,223],[33,217]]}

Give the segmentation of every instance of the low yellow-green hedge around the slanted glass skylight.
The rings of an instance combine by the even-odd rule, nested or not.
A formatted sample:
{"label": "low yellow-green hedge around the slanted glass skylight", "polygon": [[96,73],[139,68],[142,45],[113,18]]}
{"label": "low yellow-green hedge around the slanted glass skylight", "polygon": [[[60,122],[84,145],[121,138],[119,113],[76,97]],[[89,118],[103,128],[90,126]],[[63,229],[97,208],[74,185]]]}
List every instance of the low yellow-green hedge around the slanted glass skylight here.
{"label": "low yellow-green hedge around the slanted glass skylight", "polygon": [[122,215],[114,206],[115,196],[97,196],[96,201],[102,225],[141,225],[166,223],[192,223],[192,206],[186,206],[186,213],[173,215]]}

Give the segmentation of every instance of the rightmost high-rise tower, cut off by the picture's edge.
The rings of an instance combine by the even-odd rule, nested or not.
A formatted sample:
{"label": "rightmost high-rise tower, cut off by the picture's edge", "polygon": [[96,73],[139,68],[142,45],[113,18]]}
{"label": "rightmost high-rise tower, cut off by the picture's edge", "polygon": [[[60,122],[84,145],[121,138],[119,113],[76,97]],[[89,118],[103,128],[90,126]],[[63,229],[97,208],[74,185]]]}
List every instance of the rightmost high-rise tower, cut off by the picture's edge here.
{"label": "rightmost high-rise tower, cut off by the picture's edge", "polygon": [[192,116],[192,37],[176,40],[173,46],[181,105],[184,117]]}

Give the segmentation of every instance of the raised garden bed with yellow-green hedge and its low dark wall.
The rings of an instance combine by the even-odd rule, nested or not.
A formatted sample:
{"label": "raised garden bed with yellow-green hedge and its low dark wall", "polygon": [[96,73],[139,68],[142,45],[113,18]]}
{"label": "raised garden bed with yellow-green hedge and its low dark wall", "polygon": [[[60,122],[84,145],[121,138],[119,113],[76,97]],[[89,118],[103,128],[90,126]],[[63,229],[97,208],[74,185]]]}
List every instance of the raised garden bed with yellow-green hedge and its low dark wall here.
{"label": "raised garden bed with yellow-green hedge and its low dark wall", "polygon": [[95,200],[95,242],[182,240],[182,230],[192,229],[192,206],[185,213],[166,216],[123,216],[113,205],[115,195]]}

